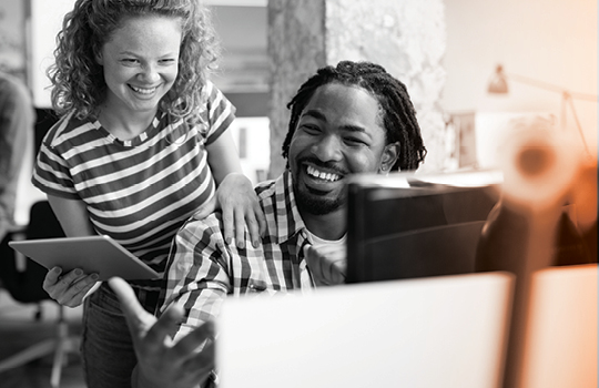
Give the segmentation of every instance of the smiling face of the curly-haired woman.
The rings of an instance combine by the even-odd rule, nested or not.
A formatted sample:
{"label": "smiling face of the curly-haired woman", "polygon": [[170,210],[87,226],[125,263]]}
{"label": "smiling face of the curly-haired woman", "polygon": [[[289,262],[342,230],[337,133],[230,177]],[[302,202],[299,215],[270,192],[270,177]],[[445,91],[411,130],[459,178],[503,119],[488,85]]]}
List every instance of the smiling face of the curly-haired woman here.
{"label": "smiling face of the curly-haired woman", "polygon": [[175,82],[181,39],[176,18],[126,19],[98,57],[108,85],[104,109],[155,113]]}

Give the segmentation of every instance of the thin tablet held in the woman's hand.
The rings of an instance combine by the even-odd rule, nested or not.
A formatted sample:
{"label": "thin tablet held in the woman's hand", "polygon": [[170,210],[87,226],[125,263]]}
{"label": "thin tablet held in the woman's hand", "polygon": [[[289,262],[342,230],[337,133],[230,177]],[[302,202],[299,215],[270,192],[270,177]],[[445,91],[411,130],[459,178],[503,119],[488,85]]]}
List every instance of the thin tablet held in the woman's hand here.
{"label": "thin tablet held in the woman's hand", "polygon": [[63,274],[81,268],[87,274],[99,274],[100,280],[113,276],[129,280],[160,277],[109,236],[24,239],[9,245],[48,269],[62,267]]}

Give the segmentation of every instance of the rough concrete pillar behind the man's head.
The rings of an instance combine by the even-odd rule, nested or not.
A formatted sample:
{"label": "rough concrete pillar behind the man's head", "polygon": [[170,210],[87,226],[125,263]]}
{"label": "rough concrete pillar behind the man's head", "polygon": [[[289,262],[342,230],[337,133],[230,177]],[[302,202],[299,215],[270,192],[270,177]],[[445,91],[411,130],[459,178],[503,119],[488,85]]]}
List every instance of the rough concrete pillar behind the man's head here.
{"label": "rough concrete pillar behind the man's head", "polygon": [[268,0],[268,176],[277,176],[285,165],[281,146],[290,116],[286,104],[318,68],[345,59],[382,64],[406,84],[428,149],[420,171],[445,170],[451,150],[439,106],[444,12],[443,0]]}

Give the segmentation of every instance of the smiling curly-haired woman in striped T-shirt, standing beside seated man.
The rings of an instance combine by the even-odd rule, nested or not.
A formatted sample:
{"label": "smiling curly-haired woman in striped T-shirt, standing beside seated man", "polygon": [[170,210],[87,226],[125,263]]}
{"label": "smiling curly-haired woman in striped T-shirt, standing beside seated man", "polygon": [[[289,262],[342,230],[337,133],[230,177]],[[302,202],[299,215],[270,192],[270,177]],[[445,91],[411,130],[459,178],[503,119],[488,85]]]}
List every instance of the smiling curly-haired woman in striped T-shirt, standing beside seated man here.
{"label": "smiling curly-haired woman in striped T-shirt, standing beside seated man", "polygon": [[[264,215],[230,133],[235,108],[209,81],[219,45],[207,9],[195,0],[77,0],[57,42],[49,75],[61,119],[32,182],[67,236],[109,235],[159,274],[199,208],[222,208],[227,243],[246,229],[258,239]],[[54,267],[43,287],[69,307],[84,300],[88,387],[130,387],[131,335],[98,279]],[[131,285],[154,312],[162,280]]]}

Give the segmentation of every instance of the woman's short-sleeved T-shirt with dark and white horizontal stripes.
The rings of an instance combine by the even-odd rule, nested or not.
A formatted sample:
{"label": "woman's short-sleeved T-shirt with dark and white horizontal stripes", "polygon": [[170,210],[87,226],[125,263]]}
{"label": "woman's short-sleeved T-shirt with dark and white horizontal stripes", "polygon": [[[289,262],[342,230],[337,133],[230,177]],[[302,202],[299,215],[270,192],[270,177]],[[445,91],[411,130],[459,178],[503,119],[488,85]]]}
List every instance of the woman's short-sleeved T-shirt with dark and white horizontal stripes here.
{"label": "woman's short-sleeved T-shirt with dark and white horizontal stripes", "polygon": [[221,91],[207,83],[203,92],[202,124],[159,112],[128,141],[97,120],[62,118],[42,142],[32,183],[47,194],[83,201],[98,234],[162,273],[176,231],[214,195],[205,146],[234,120]]}

